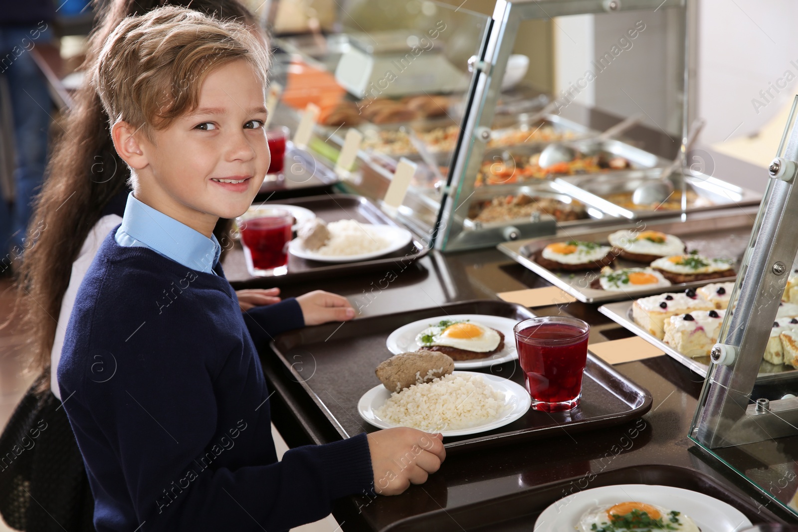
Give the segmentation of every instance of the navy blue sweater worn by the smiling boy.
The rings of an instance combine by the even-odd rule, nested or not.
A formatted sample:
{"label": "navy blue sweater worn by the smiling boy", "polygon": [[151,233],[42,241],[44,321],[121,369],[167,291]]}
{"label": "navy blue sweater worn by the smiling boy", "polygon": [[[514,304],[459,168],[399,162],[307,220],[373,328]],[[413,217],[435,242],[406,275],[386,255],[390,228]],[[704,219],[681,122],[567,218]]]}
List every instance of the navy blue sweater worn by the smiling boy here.
{"label": "navy blue sweater worn by the smiling boy", "polygon": [[[271,532],[371,490],[365,433],[277,462],[270,392],[221,266],[190,270],[115,232],[78,290],[57,375],[98,532]],[[255,327],[302,325],[286,303],[282,324]]]}

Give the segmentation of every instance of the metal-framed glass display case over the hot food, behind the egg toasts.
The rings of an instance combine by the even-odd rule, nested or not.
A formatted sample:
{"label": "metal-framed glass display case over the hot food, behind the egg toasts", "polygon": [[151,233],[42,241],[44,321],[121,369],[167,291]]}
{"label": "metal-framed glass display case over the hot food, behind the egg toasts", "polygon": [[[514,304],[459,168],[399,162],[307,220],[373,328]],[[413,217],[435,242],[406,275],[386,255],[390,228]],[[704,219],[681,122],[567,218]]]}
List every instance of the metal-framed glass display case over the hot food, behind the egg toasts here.
{"label": "metal-framed glass display case over the hot food, behind the egg toasts", "polygon": [[[500,0],[488,16],[427,0],[351,2],[338,33],[277,38],[282,104],[294,122],[318,105],[308,149],[327,167],[360,133],[354,166],[338,172],[346,191],[380,202],[410,165],[401,203],[381,205],[440,250],[757,204],[700,153],[680,152],[692,122],[689,9]],[[678,153],[662,179],[674,193],[634,203]]]}

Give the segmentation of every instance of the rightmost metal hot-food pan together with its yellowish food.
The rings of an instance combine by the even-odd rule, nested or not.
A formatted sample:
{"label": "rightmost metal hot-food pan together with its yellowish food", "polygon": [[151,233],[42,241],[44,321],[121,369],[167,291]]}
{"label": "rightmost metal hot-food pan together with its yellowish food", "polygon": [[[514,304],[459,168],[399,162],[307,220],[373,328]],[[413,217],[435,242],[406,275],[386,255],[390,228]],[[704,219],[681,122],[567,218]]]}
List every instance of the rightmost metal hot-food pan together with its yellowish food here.
{"label": "rightmost metal hot-food pan together with its yellowish food", "polygon": [[636,205],[632,201],[635,189],[654,179],[660,179],[658,168],[627,171],[622,175],[569,175],[559,176],[560,190],[593,207],[621,218],[642,219],[668,215],[674,211],[712,211],[727,207],[759,205],[762,195],[712,175],[691,172],[684,176],[685,198],[682,201],[681,179],[671,179],[674,193],[664,201]]}

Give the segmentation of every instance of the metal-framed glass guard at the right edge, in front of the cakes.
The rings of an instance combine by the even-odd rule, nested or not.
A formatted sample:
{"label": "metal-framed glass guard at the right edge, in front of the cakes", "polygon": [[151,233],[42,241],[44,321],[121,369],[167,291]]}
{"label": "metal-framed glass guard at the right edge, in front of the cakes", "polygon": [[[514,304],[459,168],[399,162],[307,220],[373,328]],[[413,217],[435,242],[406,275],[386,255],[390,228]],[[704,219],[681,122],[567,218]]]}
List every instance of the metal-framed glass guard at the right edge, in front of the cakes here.
{"label": "metal-framed glass guard at the right edge, in front of the cakes", "polygon": [[690,438],[798,514],[798,97],[741,262]]}

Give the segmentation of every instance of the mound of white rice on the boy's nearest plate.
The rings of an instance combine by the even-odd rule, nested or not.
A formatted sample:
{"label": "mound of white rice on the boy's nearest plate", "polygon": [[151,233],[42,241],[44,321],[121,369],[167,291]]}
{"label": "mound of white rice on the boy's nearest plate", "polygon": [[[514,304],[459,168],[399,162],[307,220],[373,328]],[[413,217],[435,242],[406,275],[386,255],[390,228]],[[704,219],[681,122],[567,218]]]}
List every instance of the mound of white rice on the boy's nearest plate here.
{"label": "mound of white rice on the boy's nearest plate", "polygon": [[496,420],[504,408],[504,394],[482,376],[451,374],[392,393],[374,413],[401,427],[440,432]]}

